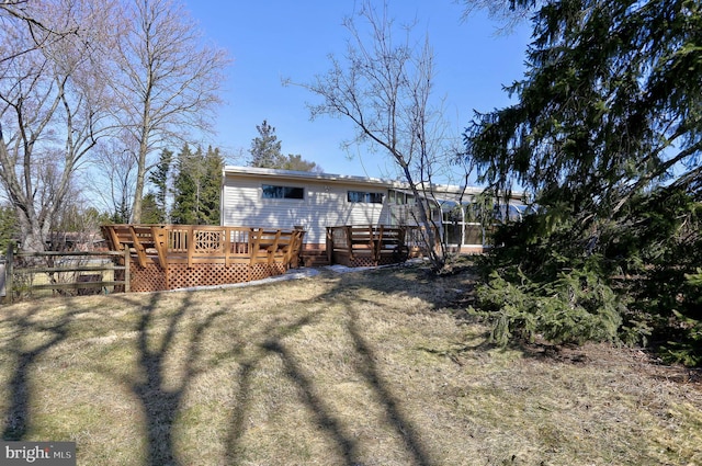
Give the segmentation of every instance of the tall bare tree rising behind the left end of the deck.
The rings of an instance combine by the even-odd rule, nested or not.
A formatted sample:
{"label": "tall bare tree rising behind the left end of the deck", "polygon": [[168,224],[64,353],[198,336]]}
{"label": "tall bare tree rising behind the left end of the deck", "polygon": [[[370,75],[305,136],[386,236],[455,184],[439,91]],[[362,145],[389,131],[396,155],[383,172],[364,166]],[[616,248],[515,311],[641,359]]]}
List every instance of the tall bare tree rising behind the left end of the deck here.
{"label": "tall bare tree rising behind the left end of the deck", "polygon": [[132,221],[141,219],[141,200],[152,155],[188,140],[192,129],[211,130],[220,102],[224,49],[205,45],[188,13],[171,0],[133,0],[124,12],[128,33],[121,42],[118,80],[121,126],[136,147]]}

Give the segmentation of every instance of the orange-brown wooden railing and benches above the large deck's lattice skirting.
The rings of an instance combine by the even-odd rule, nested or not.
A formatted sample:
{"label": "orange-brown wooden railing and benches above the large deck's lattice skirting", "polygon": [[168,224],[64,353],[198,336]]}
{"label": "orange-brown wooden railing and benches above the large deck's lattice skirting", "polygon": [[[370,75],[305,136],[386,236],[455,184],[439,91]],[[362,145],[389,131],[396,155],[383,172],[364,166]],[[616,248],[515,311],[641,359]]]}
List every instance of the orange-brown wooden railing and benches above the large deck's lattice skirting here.
{"label": "orange-brown wooden railing and benches above the large deck's lattice skirting", "polygon": [[222,262],[283,263],[297,266],[303,230],[218,227],[200,225],[106,225],[102,232],[110,249],[129,250],[140,266],[157,255],[162,269],[169,263]]}

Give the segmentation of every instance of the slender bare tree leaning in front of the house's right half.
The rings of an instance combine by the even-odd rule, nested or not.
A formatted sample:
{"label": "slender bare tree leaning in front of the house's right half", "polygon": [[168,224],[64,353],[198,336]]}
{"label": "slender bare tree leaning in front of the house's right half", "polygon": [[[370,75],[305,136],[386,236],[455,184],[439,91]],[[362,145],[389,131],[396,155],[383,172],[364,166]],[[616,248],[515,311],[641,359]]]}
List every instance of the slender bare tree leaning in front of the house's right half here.
{"label": "slender bare tree leaning in front of the house's right half", "polygon": [[[440,107],[432,106],[433,53],[429,41],[414,43],[411,26],[395,39],[387,5],[381,12],[365,2],[359,13],[370,30],[364,39],[353,18],[344,20],[350,33],[346,59],[331,56],[331,68],[301,84],[322,98],[309,105],[312,116],[350,118],[356,137],[349,144],[370,143],[392,157],[417,202],[414,214],[422,226],[424,249],[434,271],[445,264],[446,250],[439,241],[432,217],[432,179],[444,169],[445,125]],[[455,154],[454,154],[455,155]]]}

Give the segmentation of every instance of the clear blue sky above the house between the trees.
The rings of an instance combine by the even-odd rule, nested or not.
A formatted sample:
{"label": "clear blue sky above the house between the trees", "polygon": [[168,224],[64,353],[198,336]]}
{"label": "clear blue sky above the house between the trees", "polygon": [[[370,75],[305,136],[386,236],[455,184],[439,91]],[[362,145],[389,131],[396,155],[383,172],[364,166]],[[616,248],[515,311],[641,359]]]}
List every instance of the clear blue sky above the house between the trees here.
{"label": "clear blue sky above the house between the trees", "polygon": [[[299,154],[327,173],[392,175],[383,154],[359,147],[349,159],[341,143],[353,135],[350,121],[327,116],[310,121],[306,103],[319,102],[303,88],[282,80],[310,82],[329,69],[329,54],[343,57],[348,31],[344,16],[360,8],[354,0],[184,0],[208,39],[228,49],[233,64],[224,83],[225,105],[217,112],[212,144],[244,164],[256,129],[263,120],[275,128],[283,154]],[[377,1],[382,7],[382,0]],[[428,35],[434,52],[434,96],[443,99],[446,120],[456,134],[473,111],[487,112],[509,103],[502,86],[520,79],[529,41],[526,25],[496,35],[498,24],[483,15],[462,21],[454,0],[388,0],[398,22],[416,19],[417,38]]]}

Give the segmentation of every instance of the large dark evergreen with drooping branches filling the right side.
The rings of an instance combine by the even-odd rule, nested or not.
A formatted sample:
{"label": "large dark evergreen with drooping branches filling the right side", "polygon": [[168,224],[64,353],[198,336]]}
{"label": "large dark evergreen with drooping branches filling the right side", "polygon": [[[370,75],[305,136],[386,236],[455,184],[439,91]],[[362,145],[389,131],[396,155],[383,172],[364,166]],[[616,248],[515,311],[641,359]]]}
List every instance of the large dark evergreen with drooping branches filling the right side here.
{"label": "large dark evergreen with drooping branches filling the right side", "polygon": [[[558,329],[561,341],[643,339],[675,320],[673,309],[699,319],[684,276],[702,265],[702,7],[689,0],[509,3],[536,10],[528,71],[508,89],[519,101],[477,115],[466,133],[483,180],[502,192],[521,185],[540,207],[528,225],[507,227],[496,239],[506,248],[496,249],[488,285],[514,298],[501,307],[512,311],[500,318],[502,329]],[[690,253],[676,257],[683,243]],[[660,279],[654,271],[665,271],[672,299],[650,293]],[[622,282],[623,274],[645,280]],[[601,287],[616,289],[618,303],[608,293],[582,295],[582,307],[574,300]],[[483,291],[497,305],[500,293]],[[551,296],[564,306],[541,300]],[[569,312],[576,308],[584,314]],[[566,322],[588,319],[601,331]]]}

